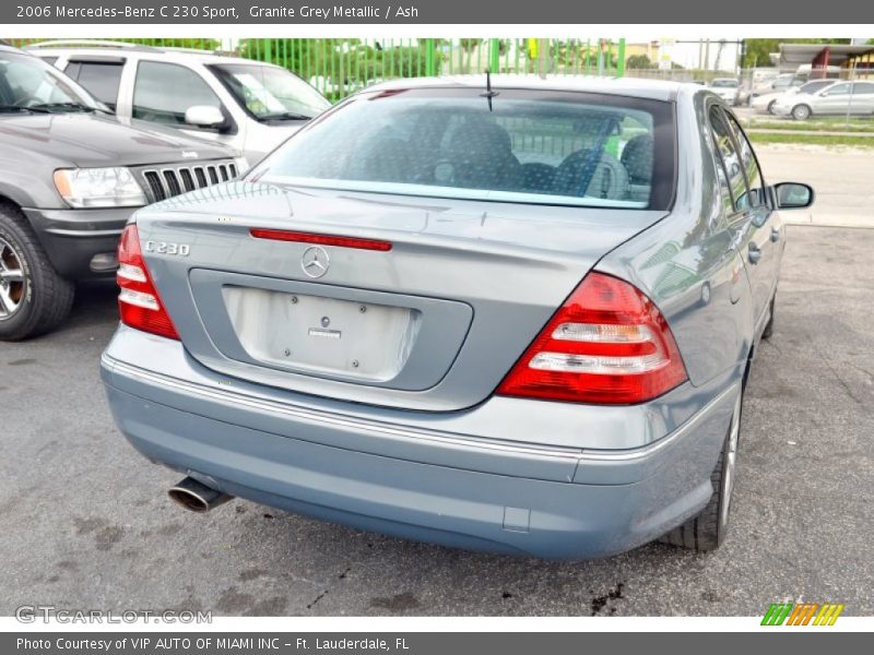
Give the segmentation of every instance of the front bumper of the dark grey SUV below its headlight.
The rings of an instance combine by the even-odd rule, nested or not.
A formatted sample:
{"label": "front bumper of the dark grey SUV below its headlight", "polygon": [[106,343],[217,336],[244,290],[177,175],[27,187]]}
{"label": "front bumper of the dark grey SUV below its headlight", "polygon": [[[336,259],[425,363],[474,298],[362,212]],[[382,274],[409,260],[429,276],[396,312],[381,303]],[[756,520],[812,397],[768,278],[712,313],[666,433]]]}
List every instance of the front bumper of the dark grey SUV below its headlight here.
{"label": "front bumper of the dark grey SUV below its headlight", "polygon": [[[115,274],[115,252],[128,218],[137,207],[106,210],[24,209],[55,270],[63,277],[82,279]],[[108,266],[94,266],[95,255]]]}

